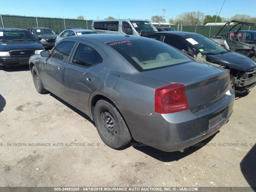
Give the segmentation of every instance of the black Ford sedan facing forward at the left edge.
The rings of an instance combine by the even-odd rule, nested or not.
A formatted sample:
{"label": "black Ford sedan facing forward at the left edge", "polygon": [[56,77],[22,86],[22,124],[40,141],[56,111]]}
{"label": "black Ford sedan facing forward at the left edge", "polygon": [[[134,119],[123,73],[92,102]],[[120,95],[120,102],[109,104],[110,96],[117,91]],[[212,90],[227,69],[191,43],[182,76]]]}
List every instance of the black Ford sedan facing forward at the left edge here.
{"label": "black Ford sedan facing forward at the left edge", "polygon": [[26,65],[31,55],[40,54],[42,50],[44,47],[28,30],[0,29],[0,70],[5,66]]}

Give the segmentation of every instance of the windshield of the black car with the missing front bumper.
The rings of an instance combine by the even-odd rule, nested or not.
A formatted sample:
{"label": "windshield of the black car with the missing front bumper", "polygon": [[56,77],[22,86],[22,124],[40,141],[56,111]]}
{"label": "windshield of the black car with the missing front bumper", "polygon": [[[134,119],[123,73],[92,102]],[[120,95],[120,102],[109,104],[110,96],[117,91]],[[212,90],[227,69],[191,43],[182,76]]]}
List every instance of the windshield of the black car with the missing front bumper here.
{"label": "windshield of the black car with the missing front bumper", "polygon": [[219,44],[202,35],[186,35],[186,40],[192,45],[192,48],[202,54],[226,53],[227,50]]}

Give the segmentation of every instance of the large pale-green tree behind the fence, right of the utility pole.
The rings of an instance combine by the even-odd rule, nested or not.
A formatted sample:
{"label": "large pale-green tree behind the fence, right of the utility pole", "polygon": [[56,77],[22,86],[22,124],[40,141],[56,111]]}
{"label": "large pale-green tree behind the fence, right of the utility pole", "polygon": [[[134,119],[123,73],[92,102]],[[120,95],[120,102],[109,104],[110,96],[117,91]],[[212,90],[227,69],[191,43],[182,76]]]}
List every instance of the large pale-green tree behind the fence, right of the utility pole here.
{"label": "large pale-green tree behind the fence, right of the utility pole", "polygon": [[176,22],[182,23],[184,26],[200,25],[204,21],[204,13],[200,11],[184,12],[176,17]]}

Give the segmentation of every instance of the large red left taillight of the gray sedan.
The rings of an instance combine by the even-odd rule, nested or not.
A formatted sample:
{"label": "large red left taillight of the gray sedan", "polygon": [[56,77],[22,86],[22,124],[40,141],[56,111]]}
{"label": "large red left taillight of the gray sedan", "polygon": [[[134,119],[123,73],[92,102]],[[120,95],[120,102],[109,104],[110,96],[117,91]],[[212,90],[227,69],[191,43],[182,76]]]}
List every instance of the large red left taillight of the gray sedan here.
{"label": "large red left taillight of the gray sedan", "polygon": [[188,109],[184,84],[174,83],[157,88],[155,91],[155,112],[174,113]]}

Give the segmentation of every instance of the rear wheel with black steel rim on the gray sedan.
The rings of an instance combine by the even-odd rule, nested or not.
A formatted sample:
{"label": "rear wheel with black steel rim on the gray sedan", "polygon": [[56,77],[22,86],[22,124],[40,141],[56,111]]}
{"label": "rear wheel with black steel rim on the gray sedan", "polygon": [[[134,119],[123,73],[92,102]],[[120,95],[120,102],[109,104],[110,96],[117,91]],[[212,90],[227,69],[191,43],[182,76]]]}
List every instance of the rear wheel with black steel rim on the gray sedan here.
{"label": "rear wheel with black steel rim on the gray sedan", "polygon": [[124,119],[112,102],[105,99],[99,100],[94,114],[98,134],[107,146],[117,149],[132,140]]}

